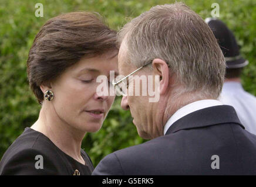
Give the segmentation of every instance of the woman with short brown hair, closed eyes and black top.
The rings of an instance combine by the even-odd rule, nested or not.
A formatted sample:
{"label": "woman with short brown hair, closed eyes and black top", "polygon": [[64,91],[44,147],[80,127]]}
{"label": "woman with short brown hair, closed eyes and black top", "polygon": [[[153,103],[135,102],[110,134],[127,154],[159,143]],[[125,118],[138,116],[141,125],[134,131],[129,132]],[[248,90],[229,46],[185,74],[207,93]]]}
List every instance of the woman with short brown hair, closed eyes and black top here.
{"label": "woman with short brown hair, closed eyes and black top", "polygon": [[[97,13],[72,12],[48,20],[28,57],[29,85],[42,105],[5,152],[1,175],[90,175],[81,149],[102,126],[114,96],[97,94],[97,76],[117,72],[116,32]],[[109,80],[111,81],[111,80]]]}

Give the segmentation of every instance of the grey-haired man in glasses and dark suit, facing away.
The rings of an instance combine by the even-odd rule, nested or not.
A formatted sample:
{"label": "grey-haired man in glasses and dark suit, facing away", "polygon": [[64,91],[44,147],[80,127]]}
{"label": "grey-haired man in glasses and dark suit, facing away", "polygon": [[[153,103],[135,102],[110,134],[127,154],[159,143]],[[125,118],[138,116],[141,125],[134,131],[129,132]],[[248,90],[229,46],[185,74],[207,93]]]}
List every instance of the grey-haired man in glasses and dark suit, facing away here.
{"label": "grey-haired man in glasses and dark suit, facing away", "polygon": [[[93,175],[256,174],[256,136],[244,130],[232,106],[217,100],[225,60],[200,16],[182,3],[154,6],[127,23],[119,41],[124,78],[113,85],[126,88],[121,106],[150,141],[107,155]],[[132,75],[159,77],[147,78],[159,101],[130,94]]]}

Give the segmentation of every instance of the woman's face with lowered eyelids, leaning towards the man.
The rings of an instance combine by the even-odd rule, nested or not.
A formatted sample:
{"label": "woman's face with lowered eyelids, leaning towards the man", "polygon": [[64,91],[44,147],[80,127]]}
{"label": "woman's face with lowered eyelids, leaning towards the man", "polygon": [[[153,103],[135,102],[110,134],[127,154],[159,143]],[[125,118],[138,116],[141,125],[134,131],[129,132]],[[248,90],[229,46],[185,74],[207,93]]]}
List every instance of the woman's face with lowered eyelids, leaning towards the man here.
{"label": "woman's face with lowered eyelids, leaning towards the man", "polygon": [[113,70],[117,73],[117,56],[107,53],[81,58],[63,72],[52,83],[54,98],[50,101],[60,120],[79,131],[99,130],[115,96],[99,96],[96,89],[101,83],[96,82],[96,79],[99,75],[105,75],[111,82],[110,71]]}

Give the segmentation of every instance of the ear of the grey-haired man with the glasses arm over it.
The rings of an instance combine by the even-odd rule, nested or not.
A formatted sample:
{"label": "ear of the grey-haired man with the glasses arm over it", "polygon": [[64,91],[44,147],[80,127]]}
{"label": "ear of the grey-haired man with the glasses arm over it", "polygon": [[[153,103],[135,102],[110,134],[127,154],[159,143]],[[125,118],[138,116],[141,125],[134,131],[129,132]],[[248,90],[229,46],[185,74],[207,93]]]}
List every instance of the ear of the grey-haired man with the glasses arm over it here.
{"label": "ear of the grey-haired man with the glasses arm over it", "polygon": [[160,95],[166,93],[169,85],[169,67],[164,60],[156,58],[152,61],[154,75],[160,76]]}

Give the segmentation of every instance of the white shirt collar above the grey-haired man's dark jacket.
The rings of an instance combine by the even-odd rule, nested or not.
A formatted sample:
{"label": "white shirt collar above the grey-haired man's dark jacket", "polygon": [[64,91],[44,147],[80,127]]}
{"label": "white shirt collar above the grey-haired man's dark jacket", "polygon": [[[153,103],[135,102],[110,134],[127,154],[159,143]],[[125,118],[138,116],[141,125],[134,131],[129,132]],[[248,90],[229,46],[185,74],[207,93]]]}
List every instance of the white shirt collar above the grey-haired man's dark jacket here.
{"label": "white shirt collar above the grey-haired man's dark jacket", "polygon": [[164,134],[166,134],[169,127],[174,122],[176,122],[178,119],[180,119],[181,117],[184,117],[184,116],[188,115],[189,113],[195,112],[196,110],[201,110],[204,108],[208,108],[211,106],[217,106],[217,105],[223,105],[223,103],[221,103],[218,100],[214,100],[214,99],[204,99],[204,100],[196,101],[193,103],[189,103],[188,105],[181,107],[166,122],[166,124],[164,126]]}

